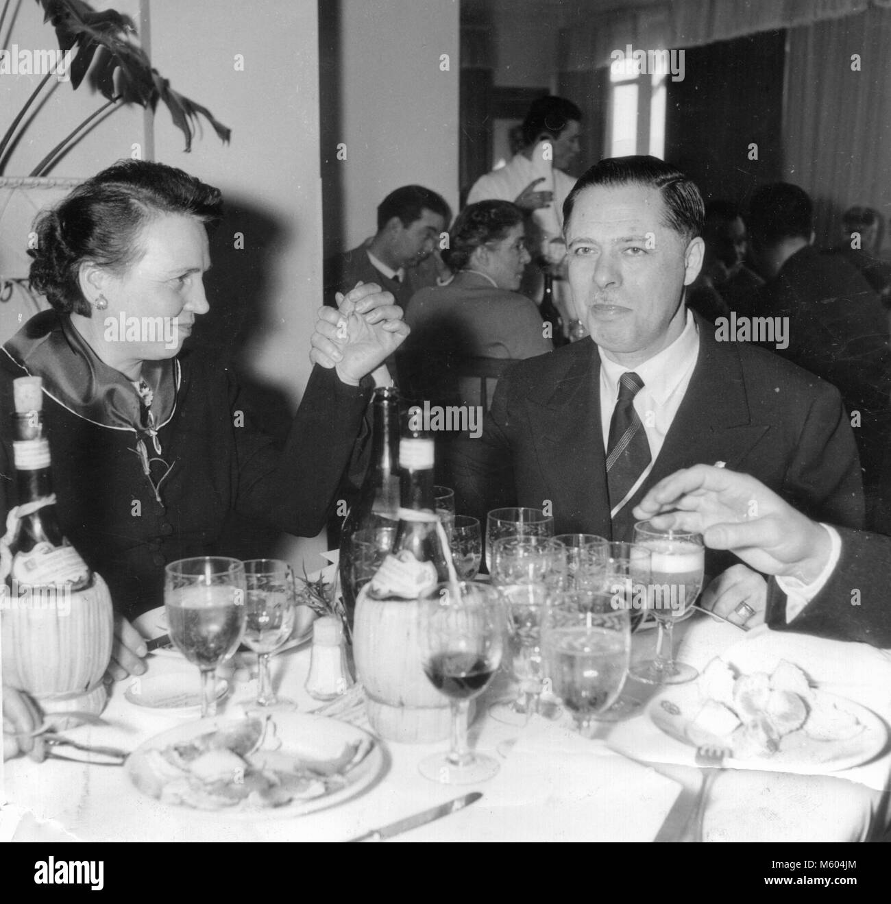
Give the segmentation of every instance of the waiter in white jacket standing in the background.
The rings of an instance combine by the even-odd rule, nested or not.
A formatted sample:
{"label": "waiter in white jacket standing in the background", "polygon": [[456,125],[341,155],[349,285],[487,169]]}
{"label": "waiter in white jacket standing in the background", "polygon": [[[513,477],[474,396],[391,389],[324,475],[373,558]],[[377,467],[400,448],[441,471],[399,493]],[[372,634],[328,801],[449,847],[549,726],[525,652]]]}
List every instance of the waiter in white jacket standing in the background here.
{"label": "waiter in white jacket standing in the background", "polygon": [[507,165],[480,176],[467,195],[468,204],[511,201],[527,212],[527,246],[538,266],[527,268],[520,291],[539,300],[539,268],[549,268],[565,330],[576,314],[565,279],[562,212],[576,180],[564,171],[578,156],[581,118],[581,110],[571,100],[549,96],[532,101],[523,120],[520,153]]}

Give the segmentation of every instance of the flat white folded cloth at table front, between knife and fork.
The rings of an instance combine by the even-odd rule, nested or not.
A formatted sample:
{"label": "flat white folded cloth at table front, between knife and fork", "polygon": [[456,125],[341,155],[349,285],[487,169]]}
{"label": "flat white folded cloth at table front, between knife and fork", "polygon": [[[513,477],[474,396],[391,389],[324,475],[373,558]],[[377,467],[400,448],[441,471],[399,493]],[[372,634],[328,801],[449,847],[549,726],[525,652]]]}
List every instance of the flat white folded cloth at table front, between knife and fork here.
{"label": "flat white folded cloth at table front, between knife and fork", "polygon": [[650,842],[680,785],[602,741],[534,717],[478,790],[482,800],[406,840]]}

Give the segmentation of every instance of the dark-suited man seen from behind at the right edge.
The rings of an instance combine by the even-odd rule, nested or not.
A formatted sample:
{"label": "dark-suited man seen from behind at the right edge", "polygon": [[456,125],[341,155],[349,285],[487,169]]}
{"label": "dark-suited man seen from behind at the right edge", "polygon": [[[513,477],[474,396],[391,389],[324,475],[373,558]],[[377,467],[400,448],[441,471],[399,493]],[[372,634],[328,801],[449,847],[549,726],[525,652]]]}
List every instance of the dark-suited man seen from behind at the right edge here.
{"label": "dark-suited man seen from behind at the right edge", "polygon": [[[788,318],[788,344],[775,351],[832,383],[858,441],[867,527],[891,530],[886,448],[891,440],[891,351],[876,292],[857,268],[815,250],[811,199],[797,185],[762,185],[752,196],[749,232],[767,283],[755,316]],[[774,347],[774,346],[770,346]]]}

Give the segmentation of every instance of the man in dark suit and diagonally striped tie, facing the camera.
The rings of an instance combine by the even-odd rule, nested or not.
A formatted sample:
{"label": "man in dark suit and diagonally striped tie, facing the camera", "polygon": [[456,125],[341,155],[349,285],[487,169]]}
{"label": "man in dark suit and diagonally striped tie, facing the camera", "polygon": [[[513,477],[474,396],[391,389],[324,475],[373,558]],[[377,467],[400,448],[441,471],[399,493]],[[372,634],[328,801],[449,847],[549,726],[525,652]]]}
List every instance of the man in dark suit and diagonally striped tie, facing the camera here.
{"label": "man in dark suit and diagonally striped tie, facing the camera", "polygon": [[[762,349],[718,342],[684,306],[702,219],[697,187],[654,157],[602,160],[581,177],[564,221],[591,338],[502,377],[483,436],[457,462],[461,511],[545,507],[558,533],[631,539],[633,506],[655,482],[723,461],[808,513],[862,526],[838,391]],[[749,570],[720,580],[714,592],[737,601],[764,592]]]}

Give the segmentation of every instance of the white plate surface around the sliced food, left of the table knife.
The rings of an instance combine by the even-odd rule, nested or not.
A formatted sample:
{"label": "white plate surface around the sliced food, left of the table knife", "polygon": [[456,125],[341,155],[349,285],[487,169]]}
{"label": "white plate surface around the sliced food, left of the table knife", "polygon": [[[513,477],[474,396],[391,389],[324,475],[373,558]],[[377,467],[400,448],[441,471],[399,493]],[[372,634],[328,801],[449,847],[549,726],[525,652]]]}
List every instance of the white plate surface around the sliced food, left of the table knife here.
{"label": "white plate surface around the sliced food, left of the table knife", "polygon": [[[387,771],[389,757],[380,740],[354,725],[300,712],[275,712],[269,718],[272,726],[267,732],[267,740],[261,747],[261,753],[272,752],[276,757],[283,758],[332,759],[340,755],[346,745],[355,743],[361,744],[361,749],[367,752],[346,772],[345,786],[309,800],[293,800],[289,804],[275,807],[251,806],[247,801],[242,801],[237,805],[211,810],[196,809],[185,804],[163,802],[164,805],[171,806],[181,813],[191,812],[213,819],[220,817],[244,821],[287,819],[351,800],[375,785]],[[230,729],[238,724],[239,720],[220,716],[164,731],[146,740],[130,754],[127,758],[127,774],[140,792],[160,799],[161,780],[151,758],[148,757],[150,750],[164,749],[172,744],[196,739],[211,731]]]}

